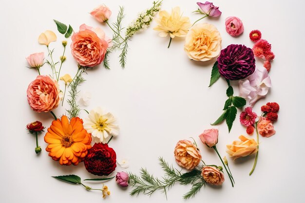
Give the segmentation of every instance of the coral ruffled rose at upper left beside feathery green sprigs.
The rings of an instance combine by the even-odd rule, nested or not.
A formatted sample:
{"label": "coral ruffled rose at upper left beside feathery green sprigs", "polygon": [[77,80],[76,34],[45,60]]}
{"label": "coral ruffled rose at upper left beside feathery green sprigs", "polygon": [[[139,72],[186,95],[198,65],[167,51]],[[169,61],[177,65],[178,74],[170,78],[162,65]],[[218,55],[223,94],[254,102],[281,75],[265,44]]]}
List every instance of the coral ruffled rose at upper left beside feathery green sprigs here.
{"label": "coral ruffled rose at upper left beside feathery green sprigs", "polygon": [[71,53],[79,65],[94,67],[104,60],[108,46],[102,29],[82,24],[72,36]]}

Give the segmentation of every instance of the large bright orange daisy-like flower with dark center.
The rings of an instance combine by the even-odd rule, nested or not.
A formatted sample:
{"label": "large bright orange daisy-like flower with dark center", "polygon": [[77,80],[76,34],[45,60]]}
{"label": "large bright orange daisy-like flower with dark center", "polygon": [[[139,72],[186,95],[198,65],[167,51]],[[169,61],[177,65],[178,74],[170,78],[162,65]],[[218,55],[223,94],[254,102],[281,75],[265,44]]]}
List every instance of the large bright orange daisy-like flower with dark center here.
{"label": "large bright orange daisy-like flower with dark center", "polygon": [[70,123],[67,116],[52,122],[44,141],[49,145],[46,151],[60,165],[77,165],[87,155],[91,148],[91,135],[84,129],[82,119],[72,118]]}

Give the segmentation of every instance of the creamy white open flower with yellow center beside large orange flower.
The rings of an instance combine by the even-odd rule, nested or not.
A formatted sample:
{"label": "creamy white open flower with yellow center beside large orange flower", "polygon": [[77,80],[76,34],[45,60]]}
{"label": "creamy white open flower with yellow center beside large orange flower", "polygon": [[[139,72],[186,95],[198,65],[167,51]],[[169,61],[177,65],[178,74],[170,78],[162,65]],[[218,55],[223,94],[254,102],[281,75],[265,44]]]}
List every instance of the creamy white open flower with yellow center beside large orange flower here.
{"label": "creamy white open flower with yellow center beside large orange flower", "polygon": [[91,133],[95,143],[105,144],[112,136],[116,137],[119,134],[119,127],[114,122],[115,118],[112,113],[98,107],[89,112],[89,116],[84,122],[84,129]]}

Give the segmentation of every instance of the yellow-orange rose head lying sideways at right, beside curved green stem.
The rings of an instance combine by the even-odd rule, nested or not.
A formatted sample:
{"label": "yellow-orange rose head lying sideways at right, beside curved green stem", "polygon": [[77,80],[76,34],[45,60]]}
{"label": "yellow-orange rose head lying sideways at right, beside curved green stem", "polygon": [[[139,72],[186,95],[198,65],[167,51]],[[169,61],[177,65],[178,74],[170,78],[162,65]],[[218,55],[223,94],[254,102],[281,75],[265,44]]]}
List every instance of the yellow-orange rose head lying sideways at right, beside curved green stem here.
{"label": "yellow-orange rose head lying sideways at right, beside curved green stem", "polygon": [[234,160],[257,152],[257,143],[254,139],[247,138],[244,135],[241,135],[238,138],[241,141],[233,141],[232,145],[227,145],[227,153],[230,157],[234,157]]}

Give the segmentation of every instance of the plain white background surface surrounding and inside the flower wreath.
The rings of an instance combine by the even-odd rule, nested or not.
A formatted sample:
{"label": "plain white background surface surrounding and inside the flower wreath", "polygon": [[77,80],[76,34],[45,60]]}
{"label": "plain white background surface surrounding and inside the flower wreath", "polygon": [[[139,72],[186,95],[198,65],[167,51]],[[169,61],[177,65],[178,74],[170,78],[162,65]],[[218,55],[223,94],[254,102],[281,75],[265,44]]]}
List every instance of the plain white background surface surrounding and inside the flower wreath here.
{"label": "plain white background surface surrounding and inside the flower wreath", "polygon": [[[108,36],[111,31],[105,25],[95,21],[89,12],[97,5],[105,3],[113,11],[110,22],[118,12],[118,6],[124,5],[127,26],[137,12],[152,4],[152,0],[27,0],[2,1],[0,7],[1,46],[1,141],[0,141],[0,202],[2,203],[53,203],[53,202],[175,202],[183,203],[182,195],[190,185],[174,185],[165,195],[155,192],[151,197],[140,195],[130,197],[131,187],[121,189],[112,180],[107,182],[111,196],[102,199],[98,191],[86,191],[82,186],[59,182],[51,176],[76,174],[82,179],[96,178],[88,173],[83,163],[78,166],[60,166],[48,157],[44,150],[46,143],[39,136],[39,145],[43,151],[36,155],[35,137],[27,134],[25,126],[29,122],[40,120],[45,127],[52,121],[50,113],[33,112],[26,100],[26,88],[36,78],[37,72],[25,68],[25,57],[36,52],[45,52],[46,47],[37,42],[41,32],[47,29],[55,31],[57,42],[55,57],[62,52],[60,41],[64,39],[56,30],[52,19],[71,24],[77,31],[78,26],[86,23],[102,27]],[[260,100],[254,111],[260,112],[260,106],[267,102],[278,102],[281,110],[275,123],[276,134],[270,138],[260,137],[260,156],[252,176],[248,173],[254,156],[233,162],[229,165],[236,181],[231,187],[229,178],[221,187],[208,185],[202,188],[190,203],[301,203],[304,192],[304,1],[292,0],[214,0],[220,7],[220,18],[205,18],[201,22],[214,24],[223,38],[222,46],[245,44],[252,47],[248,33],[259,29],[263,38],[272,44],[275,60],[270,71],[272,89],[267,98]],[[200,18],[191,14],[197,9],[195,0],[164,0],[162,9],[170,11],[180,6],[183,15],[195,21]],[[229,16],[243,20],[245,32],[240,37],[231,37],[225,31],[224,21]],[[145,32],[133,36],[129,43],[127,66],[122,70],[118,63],[119,53],[111,55],[111,70],[101,65],[89,70],[85,81],[79,88],[92,93],[91,104],[87,110],[97,106],[113,112],[118,119],[120,135],[113,139],[110,146],[118,157],[129,157],[130,167],[126,171],[138,173],[140,167],[147,167],[153,174],[163,174],[158,166],[158,156],[176,166],[173,148],[178,140],[194,137],[207,164],[220,165],[216,153],[200,143],[198,135],[204,129],[212,128],[213,122],[222,113],[226,100],[227,84],[220,79],[208,88],[213,62],[194,62],[184,53],[184,39],[172,40],[167,49],[169,38],[158,37],[153,31],[155,22]],[[69,44],[71,38],[69,38]],[[63,64],[62,74],[76,73],[70,48],[67,46],[67,62]],[[257,60],[257,66],[262,61]],[[41,68],[41,74],[49,74],[47,65]],[[235,95],[238,92],[234,84]],[[61,84],[61,88],[64,86]],[[57,115],[64,113],[65,107],[55,110]],[[240,111],[238,111],[239,116]],[[86,113],[82,112],[81,117]],[[226,154],[226,145],[238,136],[246,133],[237,117],[231,132],[225,123],[219,128],[217,148],[222,156]],[[227,155],[228,156],[228,155]],[[122,171],[117,166],[116,171]],[[99,183],[87,185],[101,188]]]}

